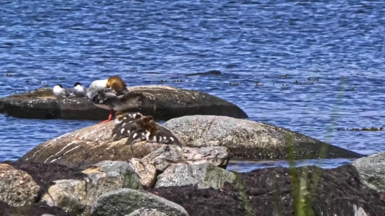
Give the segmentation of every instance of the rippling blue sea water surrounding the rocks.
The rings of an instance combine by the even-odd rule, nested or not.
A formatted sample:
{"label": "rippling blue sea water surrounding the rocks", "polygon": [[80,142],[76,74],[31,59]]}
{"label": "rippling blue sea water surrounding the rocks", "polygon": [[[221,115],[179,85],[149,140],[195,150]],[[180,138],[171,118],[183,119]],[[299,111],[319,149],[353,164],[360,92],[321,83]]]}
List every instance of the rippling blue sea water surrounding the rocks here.
{"label": "rippling blue sea water surrounding the rocks", "polygon": [[[130,86],[207,92],[250,120],[374,154],[385,150],[384,131],[337,129],[384,126],[384,44],[384,1],[2,0],[0,96],[120,75]],[[221,74],[188,75],[211,70]],[[0,161],[95,123],[1,114]]]}

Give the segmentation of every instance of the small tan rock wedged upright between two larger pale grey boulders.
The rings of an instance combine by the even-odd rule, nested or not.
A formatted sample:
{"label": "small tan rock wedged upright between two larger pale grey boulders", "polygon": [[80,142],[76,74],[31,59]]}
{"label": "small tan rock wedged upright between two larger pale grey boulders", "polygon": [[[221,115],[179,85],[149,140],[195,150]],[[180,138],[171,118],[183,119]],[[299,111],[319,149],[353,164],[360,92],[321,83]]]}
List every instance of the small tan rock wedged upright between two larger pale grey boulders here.
{"label": "small tan rock wedged upright between two larger pale grey boulders", "polygon": [[128,163],[132,166],[135,173],[139,175],[141,185],[144,187],[153,187],[156,180],[156,168],[153,164],[137,158],[129,159]]}

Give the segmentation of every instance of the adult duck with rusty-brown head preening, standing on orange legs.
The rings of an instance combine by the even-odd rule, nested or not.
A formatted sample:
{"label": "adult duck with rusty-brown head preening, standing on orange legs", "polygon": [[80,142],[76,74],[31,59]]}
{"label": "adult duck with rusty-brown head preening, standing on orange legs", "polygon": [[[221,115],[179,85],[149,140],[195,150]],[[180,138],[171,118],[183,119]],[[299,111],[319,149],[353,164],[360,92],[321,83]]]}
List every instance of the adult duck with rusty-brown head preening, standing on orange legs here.
{"label": "adult duck with rusty-brown head preening, standing on orange legs", "polygon": [[85,95],[95,106],[110,110],[109,118],[99,124],[113,119],[113,111],[124,111],[130,108],[141,107],[140,93],[130,92],[127,84],[118,75],[106,80],[94,80]]}

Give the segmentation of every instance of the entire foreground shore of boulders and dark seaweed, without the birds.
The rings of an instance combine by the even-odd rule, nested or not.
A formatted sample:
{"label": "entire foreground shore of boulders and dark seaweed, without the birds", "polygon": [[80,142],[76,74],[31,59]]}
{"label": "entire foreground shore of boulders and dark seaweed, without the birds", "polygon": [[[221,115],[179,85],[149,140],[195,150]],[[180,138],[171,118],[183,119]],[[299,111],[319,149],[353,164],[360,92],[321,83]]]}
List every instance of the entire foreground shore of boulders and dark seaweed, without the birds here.
{"label": "entire foreground shore of boulders and dark seaweed, without the birds", "polygon": [[383,154],[334,169],[265,168],[239,174],[225,170],[231,155],[286,158],[287,134],[296,158],[321,157],[321,147],[328,148],[328,158],[362,155],[287,129],[230,117],[180,117],[163,126],[183,145],[111,141],[114,123],[109,122],[64,134],[18,161],[0,163],[0,215],[385,212],[385,178],[374,165],[381,165]]}

